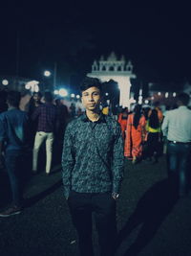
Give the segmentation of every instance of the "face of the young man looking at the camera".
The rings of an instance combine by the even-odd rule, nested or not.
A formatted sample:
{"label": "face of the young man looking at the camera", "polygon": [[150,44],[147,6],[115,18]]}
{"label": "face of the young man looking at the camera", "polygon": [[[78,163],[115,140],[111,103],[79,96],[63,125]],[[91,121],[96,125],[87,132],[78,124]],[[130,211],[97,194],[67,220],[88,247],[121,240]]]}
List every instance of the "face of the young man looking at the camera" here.
{"label": "face of the young man looking at the camera", "polygon": [[83,91],[81,101],[87,110],[94,111],[98,109],[101,101],[100,90],[97,87],[90,87]]}

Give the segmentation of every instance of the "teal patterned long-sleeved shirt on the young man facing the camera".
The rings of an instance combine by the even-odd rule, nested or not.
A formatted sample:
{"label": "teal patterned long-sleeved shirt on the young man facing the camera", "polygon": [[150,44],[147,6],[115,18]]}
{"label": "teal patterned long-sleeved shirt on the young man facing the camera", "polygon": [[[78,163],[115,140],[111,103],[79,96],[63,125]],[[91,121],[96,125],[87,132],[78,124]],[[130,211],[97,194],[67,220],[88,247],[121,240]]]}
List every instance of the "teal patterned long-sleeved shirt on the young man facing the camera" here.
{"label": "teal patterned long-sleeved shirt on the young man facing the camera", "polygon": [[119,191],[123,176],[123,139],[119,124],[101,114],[91,122],[86,114],[66,128],[62,153],[64,196],[70,191]]}

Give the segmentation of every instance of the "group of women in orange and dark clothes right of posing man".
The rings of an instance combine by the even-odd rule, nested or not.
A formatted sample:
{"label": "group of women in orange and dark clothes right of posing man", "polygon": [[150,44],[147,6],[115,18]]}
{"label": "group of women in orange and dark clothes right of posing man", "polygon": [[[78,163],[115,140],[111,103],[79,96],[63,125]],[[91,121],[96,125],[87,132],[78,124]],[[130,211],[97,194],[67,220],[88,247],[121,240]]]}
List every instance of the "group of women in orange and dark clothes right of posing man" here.
{"label": "group of women in orange and dark clothes right of posing man", "polygon": [[163,145],[162,120],[163,114],[156,105],[135,105],[130,112],[125,107],[119,113],[117,121],[124,138],[124,155],[133,164],[141,160],[158,162]]}

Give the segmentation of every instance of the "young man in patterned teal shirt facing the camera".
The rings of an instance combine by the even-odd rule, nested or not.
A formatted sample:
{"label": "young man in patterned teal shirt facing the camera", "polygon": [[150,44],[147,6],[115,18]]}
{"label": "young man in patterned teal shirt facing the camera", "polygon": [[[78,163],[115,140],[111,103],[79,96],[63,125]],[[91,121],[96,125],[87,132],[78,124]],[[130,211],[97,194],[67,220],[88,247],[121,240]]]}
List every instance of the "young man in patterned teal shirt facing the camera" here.
{"label": "young man in patterned teal shirt facing the camera", "polygon": [[64,195],[78,233],[80,255],[94,255],[95,213],[100,255],[114,254],[116,200],[123,175],[123,140],[119,124],[99,111],[101,83],[85,78],[80,86],[85,114],[66,128],[62,153]]}

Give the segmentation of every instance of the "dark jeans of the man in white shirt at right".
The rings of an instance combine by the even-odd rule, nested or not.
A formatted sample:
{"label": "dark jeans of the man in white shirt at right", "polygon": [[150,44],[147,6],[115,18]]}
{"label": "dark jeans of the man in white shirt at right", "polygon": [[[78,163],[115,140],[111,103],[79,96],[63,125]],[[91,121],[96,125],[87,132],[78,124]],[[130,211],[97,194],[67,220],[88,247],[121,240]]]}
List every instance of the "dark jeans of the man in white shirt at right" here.
{"label": "dark jeans of the man in white shirt at right", "polygon": [[189,158],[191,145],[168,142],[167,166],[170,188],[173,193],[182,196],[190,189]]}

